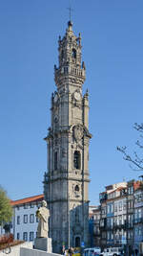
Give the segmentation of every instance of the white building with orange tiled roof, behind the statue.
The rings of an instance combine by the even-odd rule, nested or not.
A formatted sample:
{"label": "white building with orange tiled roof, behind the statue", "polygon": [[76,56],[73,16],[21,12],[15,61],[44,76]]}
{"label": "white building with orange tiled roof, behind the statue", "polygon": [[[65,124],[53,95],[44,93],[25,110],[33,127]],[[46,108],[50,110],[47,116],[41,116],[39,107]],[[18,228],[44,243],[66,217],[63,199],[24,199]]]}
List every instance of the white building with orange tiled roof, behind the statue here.
{"label": "white building with orange tiled roof, behind the statue", "polygon": [[43,199],[44,195],[38,195],[10,201],[13,208],[10,233],[14,235],[15,240],[33,242],[36,238],[38,219],[35,213]]}

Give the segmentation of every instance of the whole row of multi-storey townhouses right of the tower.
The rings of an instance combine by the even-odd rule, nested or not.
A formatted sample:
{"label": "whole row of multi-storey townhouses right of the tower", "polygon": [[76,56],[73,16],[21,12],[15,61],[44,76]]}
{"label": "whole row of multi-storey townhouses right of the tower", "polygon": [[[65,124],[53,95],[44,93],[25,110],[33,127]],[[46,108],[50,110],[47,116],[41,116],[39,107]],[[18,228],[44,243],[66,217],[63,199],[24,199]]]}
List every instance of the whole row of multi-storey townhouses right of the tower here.
{"label": "whole row of multi-storey townhouses right of the tower", "polygon": [[[139,251],[143,242],[143,181],[130,180],[106,187],[100,205],[91,208],[90,236],[93,246],[122,246],[127,255]],[[98,221],[95,220],[95,212]],[[95,236],[94,230],[99,230]]]}

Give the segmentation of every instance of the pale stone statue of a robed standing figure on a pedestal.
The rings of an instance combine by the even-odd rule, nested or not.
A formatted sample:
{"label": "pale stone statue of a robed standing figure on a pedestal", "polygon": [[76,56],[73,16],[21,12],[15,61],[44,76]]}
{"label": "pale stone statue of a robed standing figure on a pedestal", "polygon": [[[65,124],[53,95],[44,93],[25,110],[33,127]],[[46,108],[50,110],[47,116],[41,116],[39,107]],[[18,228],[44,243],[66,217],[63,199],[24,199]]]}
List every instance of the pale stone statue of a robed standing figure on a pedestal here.
{"label": "pale stone statue of a robed standing figure on a pedestal", "polygon": [[37,238],[48,238],[50,211],[47,209],[47,202],[42,201],[42,206],[36,211],[39,219],[37,227]]}

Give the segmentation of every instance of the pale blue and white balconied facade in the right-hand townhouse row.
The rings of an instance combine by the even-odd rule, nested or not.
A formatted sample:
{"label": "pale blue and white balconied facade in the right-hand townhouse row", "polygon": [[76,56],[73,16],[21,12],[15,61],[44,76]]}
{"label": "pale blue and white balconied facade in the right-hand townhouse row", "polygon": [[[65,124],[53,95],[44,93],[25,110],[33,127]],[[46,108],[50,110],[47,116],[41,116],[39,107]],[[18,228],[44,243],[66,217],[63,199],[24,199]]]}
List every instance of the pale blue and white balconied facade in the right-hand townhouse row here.
{"label": "pale blue and white balconied facade in the right-hand townhouse row", "polygon": [[101,193],[100,245],[101,247],[120,246],[125,236],[125,194],[126,182],[112,184]]}

